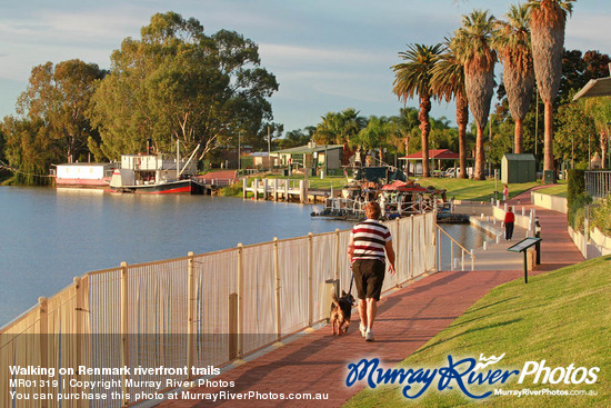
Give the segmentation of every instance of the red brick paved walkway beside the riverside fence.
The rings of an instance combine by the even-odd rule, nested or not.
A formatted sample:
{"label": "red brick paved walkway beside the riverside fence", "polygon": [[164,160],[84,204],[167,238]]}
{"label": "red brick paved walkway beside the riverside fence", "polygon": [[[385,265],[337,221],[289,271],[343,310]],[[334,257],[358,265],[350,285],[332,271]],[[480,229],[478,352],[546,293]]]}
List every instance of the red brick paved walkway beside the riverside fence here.
{"label": "red brick paved walkway beside the riverside fence", "polygon": [[[510,203],[517,203],[518,200],[520,205],[530,206],[530,193],[517,197]],[[542,265],[533,275],[583,260],[568,237],[565,216],[539,208],[537,212],[543,228]],[[513,255],[504,250],[498,253]],[[521,256],[518,256],[521,259]],[[385,366],[402,361],[448,327],[490,289],[521,278],[522,273],[521,263],[517,270],[434,273],[390,293],[380,301],[374,342],[365,342],[362,339],[355,317],[348,335],[333,337],[331,329],[323,327],[214,378],[234,381],[233,387],[190,390],[192,394],[219,390],[241,394],[253,391],[260,395],[320,392],[329,395],[325,401],[178,400],[166,401],[161,406],[339,407],[362,389],[362,386],[345,387],[348,364],[364,357],[378,357]]]}

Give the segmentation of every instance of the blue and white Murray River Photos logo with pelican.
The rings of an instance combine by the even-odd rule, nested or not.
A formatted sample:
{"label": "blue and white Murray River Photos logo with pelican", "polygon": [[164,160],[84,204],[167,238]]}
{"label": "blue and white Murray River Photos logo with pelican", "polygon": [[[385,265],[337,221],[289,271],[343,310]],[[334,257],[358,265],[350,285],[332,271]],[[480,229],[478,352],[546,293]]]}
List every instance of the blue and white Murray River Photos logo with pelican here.
{"label": "blue and white Murray River Photos logo with pelican", "polygon": [[532,381],[532,384],[587,384],[597,382],[599,367],[577,367],[574,364],[568,367],[547,367],[545,360],[527,361],[521,370],[508,370],[494,368],[504,357],[480,355],[480,359],[454,359],[448,356],[448,366],[438,368],[384,368],[380,366],[378,358],[365,359],[348,365],[345,385],[353,386],[358,381],[365,381],[370,388],[380,385],[400,385],[401,394],[409,399],[422,396],[431,386],[437,385],[439,391],[458,388],[465,396],[473,399],[490,397],[493,391],[473,394],[470,388],[473,385],[490,385],[498,387],[510,378],[518,378],[517,384]]}

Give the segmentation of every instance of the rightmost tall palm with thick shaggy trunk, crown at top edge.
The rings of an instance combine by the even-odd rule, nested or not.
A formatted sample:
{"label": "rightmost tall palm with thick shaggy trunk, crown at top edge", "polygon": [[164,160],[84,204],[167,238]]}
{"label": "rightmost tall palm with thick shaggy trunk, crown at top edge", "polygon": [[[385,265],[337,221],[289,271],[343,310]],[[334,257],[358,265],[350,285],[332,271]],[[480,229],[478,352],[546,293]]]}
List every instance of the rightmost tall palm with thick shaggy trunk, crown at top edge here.
{"label": "rightmost tall palm with thick shaggy trunk, crown at top edge", "polygon": [[564,27],[574,0],[529,0],[537,88],[545,107],[543,170],[553,170],[553,101],[560,89]]}

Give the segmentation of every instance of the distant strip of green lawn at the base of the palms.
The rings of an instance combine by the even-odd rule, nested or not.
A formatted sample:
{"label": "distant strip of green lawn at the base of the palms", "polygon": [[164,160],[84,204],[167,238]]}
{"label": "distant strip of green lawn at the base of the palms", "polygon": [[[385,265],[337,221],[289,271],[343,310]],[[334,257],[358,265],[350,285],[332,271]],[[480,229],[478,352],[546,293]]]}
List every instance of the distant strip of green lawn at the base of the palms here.
{"label": "distant strip of green lawn at the base of the palms", "polygon": [[[448,198],[457,200],[490,201],[494,197],[494,179],[474,181],[471,179],[428,178],[418,181],[422,186],[434,186],[448,190]],[[539,181],[509,185],[509,197],[515,197],[533,187],[541,186]],[[497,180],[497,198],[502,199],[503,183]]]}

